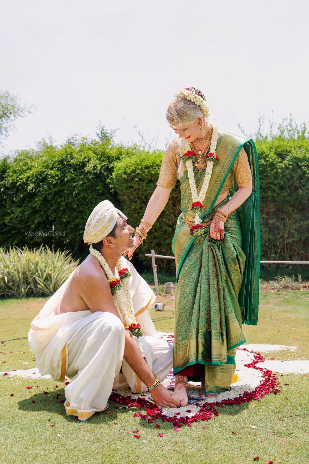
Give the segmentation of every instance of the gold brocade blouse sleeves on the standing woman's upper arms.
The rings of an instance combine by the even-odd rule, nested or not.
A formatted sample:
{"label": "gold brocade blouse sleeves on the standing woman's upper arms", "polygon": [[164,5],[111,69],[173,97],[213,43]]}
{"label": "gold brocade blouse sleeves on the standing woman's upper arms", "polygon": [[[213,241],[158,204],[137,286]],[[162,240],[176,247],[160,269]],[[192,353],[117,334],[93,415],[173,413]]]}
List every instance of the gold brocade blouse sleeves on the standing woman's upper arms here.
{"label": "gold brocade blouse sleeves on the standing woman's upper arms", "polygon": [[[157,182],[158,187],[169,189],[175,187],[177,180],[177,169],[180,164],[180,152],[183,151],[183,148],[184,144],[182,139],[178,138],[170,142],[170,145],[167,147],[162,161],[160,175]],[[184,166],[184,170],[186,170],[186,165]],[[228,189],[232,187],[233,173],[238,185],[252,180],[251,169],[244,148],[241,148],[240,154],[237,156],[233,164],[233,168],[230,170],[220,194],[227,192]]]}

